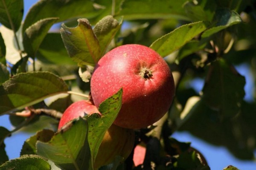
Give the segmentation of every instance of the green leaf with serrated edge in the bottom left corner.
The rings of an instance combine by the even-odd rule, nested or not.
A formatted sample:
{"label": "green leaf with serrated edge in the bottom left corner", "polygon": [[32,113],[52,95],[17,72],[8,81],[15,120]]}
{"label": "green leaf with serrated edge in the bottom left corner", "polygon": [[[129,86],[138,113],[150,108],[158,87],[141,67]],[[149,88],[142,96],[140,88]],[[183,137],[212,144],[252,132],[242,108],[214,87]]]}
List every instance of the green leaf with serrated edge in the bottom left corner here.
{"label": "green leaf with serrated edge in the bottom left corner", "polygon": [[47,160],[39,156],[24,156],[12,159],[0,166],[0,170],[51,170]]}

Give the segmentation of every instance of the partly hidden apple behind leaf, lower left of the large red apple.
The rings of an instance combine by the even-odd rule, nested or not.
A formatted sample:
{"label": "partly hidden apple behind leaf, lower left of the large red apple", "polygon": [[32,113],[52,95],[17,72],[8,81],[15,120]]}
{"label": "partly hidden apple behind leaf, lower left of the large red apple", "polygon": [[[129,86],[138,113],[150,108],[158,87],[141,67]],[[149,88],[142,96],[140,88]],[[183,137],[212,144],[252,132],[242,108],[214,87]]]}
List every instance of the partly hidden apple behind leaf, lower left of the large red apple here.
{"label": "partly hidden apple behind leaf, lower left of the large red apple", "polygon": [[[61,130],[61,127],[79,116],[93,113],[99,113],[93,102],[89,100],[74,102],[64,111],[58,125],[58,130]],[[99,151],[93,164],[94,169],[97,170],[103,165],[110,164],[114,161],[115,156],[122,156],[124,160],[127,159],[133,150],[134,138],[134,130],[112,124],[106,131],[99,146]]]}

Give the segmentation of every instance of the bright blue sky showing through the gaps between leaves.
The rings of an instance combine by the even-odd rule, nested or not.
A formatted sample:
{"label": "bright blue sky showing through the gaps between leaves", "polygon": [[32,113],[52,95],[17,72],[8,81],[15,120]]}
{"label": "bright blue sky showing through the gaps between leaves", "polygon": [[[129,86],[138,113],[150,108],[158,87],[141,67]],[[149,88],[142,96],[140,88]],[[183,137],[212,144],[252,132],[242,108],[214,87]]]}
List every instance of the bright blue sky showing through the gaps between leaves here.
{"label": "bright blue sky showing through the gaps between leaves", "polygon": [[[35,2],[37,2],[37,0],[24,0],[24,17],[26,16],[26,12]],[[253,82],[251,81],[252,74],[250,74],[250,71],[246,65],[239,65],[236,68],[239,70],[239,73],[246,77],[247,84],[245,86],[245,99],[247,101],[252,101],[253,97],[251,91],[253,91],[254,88]],[[189,85],[194,87],[196,91],[201,91],[203,87],[203,80],[196,79],[195,81],[190,82]],[[6,127],[9,130],[12,129],[12,126],[9,122],[9,117],[7,115],[0,116],[0,126]],[[15,159],[20,156],[20,150],[23,142],[31,135],[32,134],[29,133],[18,132],[5,140],[6,151],[9,159]],[[192,147],[197,148],[206,157],[212,170],[222,170],[224,167],[227,167],[230,164],[239,168],[240,170],[256,169],[255,162],[238,160],[233,157],[224,147],[212,146],[202,141],[201,139],[195,138],[189,133],[174,133],[172,137],[179,140],[180,142],[192,142]]]}

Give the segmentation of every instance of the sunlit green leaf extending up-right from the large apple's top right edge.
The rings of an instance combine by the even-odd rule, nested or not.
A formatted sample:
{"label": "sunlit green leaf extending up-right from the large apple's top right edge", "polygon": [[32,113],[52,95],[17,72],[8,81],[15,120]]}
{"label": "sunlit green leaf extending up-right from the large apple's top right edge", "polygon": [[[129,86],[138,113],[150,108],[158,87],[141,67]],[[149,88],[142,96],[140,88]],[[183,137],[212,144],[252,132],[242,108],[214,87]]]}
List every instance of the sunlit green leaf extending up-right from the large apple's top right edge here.
{"label": "sunlit green leaf extending up-right from the large apple's top right edge", "polygon": [[203,21],[180,26],[153,42],[150,48],[157,51],[160,56],[166,57],[206,29],[207,23]]}

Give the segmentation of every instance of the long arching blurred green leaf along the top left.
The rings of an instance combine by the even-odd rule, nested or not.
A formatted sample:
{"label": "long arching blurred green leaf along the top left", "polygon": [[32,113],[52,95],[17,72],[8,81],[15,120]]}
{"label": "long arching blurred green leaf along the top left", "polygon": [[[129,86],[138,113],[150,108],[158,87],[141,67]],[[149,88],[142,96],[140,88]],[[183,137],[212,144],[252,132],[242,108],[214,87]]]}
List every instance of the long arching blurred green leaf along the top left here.
{"label": "long arching blurred green leaf along the top left", "polygon": [[61,22],[74,17],[95,17],[100,12],[90,0],[39,0],[29,9],[22,32],[41,19],[58,17]]}

